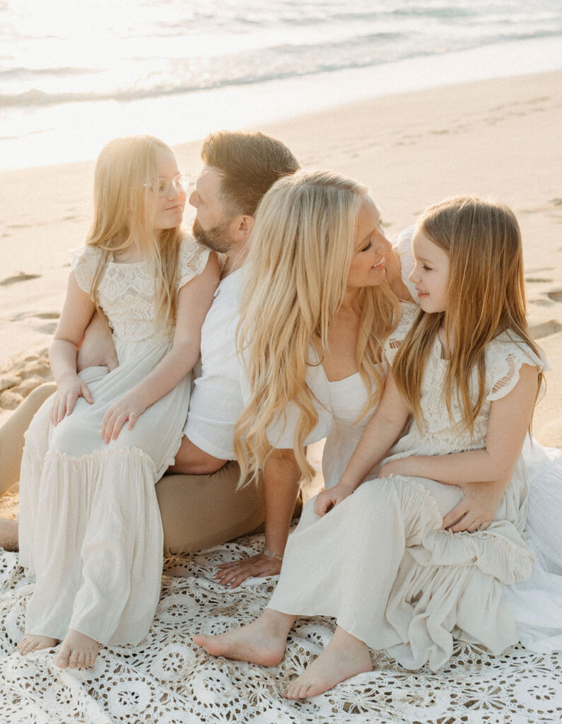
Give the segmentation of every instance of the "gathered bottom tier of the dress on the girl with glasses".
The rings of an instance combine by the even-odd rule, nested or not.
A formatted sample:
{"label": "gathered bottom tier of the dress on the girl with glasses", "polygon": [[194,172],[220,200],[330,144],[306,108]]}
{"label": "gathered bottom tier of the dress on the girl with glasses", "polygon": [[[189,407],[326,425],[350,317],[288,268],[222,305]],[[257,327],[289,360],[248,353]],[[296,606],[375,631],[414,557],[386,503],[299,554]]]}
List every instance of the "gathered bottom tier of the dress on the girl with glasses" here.
{"label": "gathered bottom tier of the dress on the girl with glasses", "polygon": [[146,636],[162,574],[155,483],[154,460],[139,448],[41,458],[26,446],[20,561],[37,578],[29,633],[62,639],[74,628],[104,644]]}

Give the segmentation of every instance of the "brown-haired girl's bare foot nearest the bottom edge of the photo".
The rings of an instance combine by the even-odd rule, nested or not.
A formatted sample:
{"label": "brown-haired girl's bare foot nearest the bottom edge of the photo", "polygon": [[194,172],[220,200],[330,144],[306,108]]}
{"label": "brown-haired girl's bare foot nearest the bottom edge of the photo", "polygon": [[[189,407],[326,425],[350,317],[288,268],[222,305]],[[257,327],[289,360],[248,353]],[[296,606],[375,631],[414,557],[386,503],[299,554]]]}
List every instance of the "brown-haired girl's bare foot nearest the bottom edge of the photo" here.
{"label": "brown-haired girl's bare foot nearest the bottom edge of the photo", "polygon": [[372,671],[371,654],[363,641],[338,626],[322,654],[282,692],[285,699],[324,694],[345,679]]}

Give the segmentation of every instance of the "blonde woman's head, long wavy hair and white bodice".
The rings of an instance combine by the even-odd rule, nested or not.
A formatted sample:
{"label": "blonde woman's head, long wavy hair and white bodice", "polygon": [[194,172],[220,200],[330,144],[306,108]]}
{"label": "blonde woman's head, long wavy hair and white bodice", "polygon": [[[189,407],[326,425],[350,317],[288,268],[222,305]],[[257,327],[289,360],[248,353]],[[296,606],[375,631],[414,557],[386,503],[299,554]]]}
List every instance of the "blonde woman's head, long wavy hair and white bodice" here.
{"label": "blonde woman's head, long wavy hair and white bodice", "polygon": [[241,479],[282,448],[293,448],[310,479],[305,446],[329,435],[324,479],[337,482],[379,399],[397,295],[409,298],[395,266],[380,211],[358,182],[302,171],[265,195],[240,303],[248,380],[235,433]]}

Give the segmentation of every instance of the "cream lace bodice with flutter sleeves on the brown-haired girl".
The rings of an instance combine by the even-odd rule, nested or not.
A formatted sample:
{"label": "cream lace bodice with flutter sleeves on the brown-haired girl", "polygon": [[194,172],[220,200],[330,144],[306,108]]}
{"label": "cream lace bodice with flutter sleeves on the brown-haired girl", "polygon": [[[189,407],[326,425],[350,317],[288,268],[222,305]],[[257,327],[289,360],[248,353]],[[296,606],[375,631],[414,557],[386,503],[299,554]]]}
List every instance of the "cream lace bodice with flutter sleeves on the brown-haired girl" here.
{"label": "cream lace bodice with flutter sleeves on the brown-haired girl", "polygon": [[[387,341],[385,351],[390,364],[393,363],[400,344],[411,327],[411,321],[412,317],[408,320],[407,316],[403,316],[398,328]],[[471,434],[462,421],[461,409],[454,395],[451,401],[451,418],[449,418],[443,394],[448,361],[441,355],[441,344],[436,339],[421,382],[421,425],[416,426],[414,423],[411,431],[411,434],[417,432],[424,445],[434,447],[434,454],[485,447],[492,402],[500,400],[513,390],[519,382],[521,366],[529,364],[537,366],[540,370],[548,369],[545,358],[534,353],[517,334],[511,331],[498,334],[498,337],[495,337],[485,349],[485,400],[474,421],[474,432]],[[470,380],[473,401],[476,400],[477,387],[477,369],[474,368]]]}

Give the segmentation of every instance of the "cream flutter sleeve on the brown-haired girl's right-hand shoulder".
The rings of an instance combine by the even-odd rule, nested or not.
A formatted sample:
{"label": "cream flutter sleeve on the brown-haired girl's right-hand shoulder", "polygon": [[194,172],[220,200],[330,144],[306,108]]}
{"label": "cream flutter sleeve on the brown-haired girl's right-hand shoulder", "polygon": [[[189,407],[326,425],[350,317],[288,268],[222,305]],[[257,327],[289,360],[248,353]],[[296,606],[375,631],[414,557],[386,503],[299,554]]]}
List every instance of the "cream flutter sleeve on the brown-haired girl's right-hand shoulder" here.
{"label": "cream flutter sleeve on the brown-haired girl's right-hand shoulder", "polygon": [[490,342],[486,350],[487,400],[506,397],[519,382],[519,372],[524,364],[547,371],[550,365],[542,352],[538,354],[516,334],[503,332]]}

